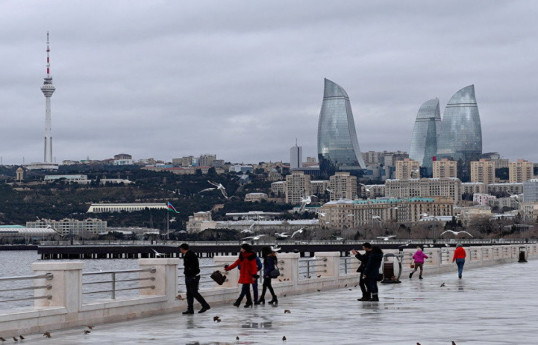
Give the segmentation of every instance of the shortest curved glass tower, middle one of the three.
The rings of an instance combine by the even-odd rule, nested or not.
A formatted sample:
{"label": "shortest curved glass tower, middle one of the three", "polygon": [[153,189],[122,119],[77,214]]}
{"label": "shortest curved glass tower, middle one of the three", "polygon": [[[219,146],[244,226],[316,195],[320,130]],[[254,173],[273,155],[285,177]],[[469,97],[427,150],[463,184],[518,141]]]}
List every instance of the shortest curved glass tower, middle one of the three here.
{"label": "shortest curved glass tower, middle one of the three", "polygon": [[437,137],[440,128],[439,99],[430,99],[424,102],[418,110],[409,149],[409,158],[418,161],[421,167],[428,168],[430,173],[433,157],[437,155]]}

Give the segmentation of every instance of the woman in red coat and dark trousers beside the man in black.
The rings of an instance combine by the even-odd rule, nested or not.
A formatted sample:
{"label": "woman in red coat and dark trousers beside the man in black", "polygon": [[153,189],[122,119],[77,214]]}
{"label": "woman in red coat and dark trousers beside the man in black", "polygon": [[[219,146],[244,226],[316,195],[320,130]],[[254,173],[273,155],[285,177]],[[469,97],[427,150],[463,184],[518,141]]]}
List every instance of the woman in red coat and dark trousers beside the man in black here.
{"label": "woman in red coat and dark trousers beside the man in black", "polygon": [[258,267],[256,265],[256,253],[252,250],[252,247],[248,243],[243,243],[239,251],[239,258],[231,265],[225,265],[224,269],[229,271],[241,264],[239,268],[239,284],[243,284],[241,287],[241,293],[234,302],[234,306],[239,307],[243,297],[247,297],[247,303],[245,308],[252,307],[252,297],[250,295],[250,285],[259,277]]}

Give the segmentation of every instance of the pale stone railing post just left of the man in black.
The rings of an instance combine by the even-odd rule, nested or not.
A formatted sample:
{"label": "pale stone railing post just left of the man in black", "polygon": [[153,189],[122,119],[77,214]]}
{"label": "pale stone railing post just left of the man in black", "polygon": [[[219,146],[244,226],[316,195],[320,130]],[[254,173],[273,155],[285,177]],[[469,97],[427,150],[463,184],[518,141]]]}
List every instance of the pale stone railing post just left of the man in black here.
{"label": "pale stone railing post just left of the man in black", "polygon": [[179,259],[138,259],[140,269],[155,268],[155,273],[140,272],[140,278],[155,277],[154,281],[142,280],[140,286],[155,285],[155,289],[142,289],[140,295],[164,295],[174,302],[177,295],[177,266]]}

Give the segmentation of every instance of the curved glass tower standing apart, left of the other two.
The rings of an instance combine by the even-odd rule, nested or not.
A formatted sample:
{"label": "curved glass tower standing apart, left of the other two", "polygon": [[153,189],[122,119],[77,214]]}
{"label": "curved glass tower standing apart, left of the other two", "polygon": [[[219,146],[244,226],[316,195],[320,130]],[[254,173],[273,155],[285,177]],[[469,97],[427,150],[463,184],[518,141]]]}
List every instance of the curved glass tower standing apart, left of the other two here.
{"label": "curved glass tower standing apart, left of the other two", "polygon": [[346,91],[325,79],[318,122],[320,168],[337,170],[366,168],[357,140],[353,112]]}

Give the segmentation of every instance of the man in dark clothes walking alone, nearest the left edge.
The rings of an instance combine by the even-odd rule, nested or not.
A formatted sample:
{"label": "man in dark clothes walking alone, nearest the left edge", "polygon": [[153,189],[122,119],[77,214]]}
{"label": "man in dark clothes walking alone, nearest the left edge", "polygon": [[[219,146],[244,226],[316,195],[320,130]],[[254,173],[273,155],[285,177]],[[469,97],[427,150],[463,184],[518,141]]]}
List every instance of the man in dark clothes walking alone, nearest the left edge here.
{"label": "man in dark clothes walking alone, nearest the left edge", "polygon": [[185,268],[183,274],[185,275],[185,286],[187,287],[187,310],[183,312],[183,315],[194,314],[194,299],[202,305],[202,309],[198,313],[205,313],[211,307],[202,295],[200,295],[200,292],[198,292],[198,286],[200,284],[198,256],[189,248],[187,243],[182,243],[179,246],[179,250],[183,254],[183,266]]}

